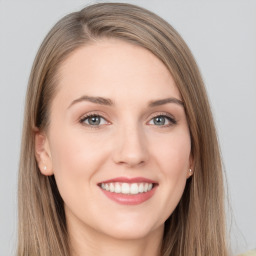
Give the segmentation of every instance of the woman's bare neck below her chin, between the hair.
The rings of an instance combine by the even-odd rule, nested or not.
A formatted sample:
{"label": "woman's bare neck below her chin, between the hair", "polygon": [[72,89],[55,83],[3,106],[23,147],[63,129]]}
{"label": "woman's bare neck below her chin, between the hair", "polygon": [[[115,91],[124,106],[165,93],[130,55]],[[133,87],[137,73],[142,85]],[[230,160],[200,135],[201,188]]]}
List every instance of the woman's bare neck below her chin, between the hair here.
{"label": "woman's bare neck below her chin, between the hair", "polygon": [[[81,226],[80,226],[81,227]],[[163,227],[145,237],[119,239],[86,227],[68,228],[71,256],[160,256]]]}

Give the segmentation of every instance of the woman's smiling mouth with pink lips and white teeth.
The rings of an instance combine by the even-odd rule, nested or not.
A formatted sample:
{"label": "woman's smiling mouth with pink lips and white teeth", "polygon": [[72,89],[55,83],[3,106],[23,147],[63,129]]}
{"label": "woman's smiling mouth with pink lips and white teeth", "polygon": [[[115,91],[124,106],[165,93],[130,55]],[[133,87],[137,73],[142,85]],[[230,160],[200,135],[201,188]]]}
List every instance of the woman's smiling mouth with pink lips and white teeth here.
{"label": "woman's smiling mouth with pink lips and white teeth", "polygon": [[145,178],[116,178],[98,183],[101,191],[119,204],[135,205],[149,200],[158,183]]}

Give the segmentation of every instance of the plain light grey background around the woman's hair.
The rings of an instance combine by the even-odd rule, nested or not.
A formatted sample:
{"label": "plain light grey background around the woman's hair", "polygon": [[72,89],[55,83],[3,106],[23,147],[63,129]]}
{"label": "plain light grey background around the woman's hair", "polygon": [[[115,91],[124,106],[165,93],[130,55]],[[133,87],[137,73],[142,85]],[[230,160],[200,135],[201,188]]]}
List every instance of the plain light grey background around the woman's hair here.
{"label": "plain light grey background around the woman's hair", "polygon": [[[13,255],[16,245],[17,169],[33,59],[57,20],[94,2],[0,0],[1,256]],[[256,1],[126,2],[165,18],[194,53],[222,148],[232,208],[228,217],[232,249],[237,254],[256,248]]]}

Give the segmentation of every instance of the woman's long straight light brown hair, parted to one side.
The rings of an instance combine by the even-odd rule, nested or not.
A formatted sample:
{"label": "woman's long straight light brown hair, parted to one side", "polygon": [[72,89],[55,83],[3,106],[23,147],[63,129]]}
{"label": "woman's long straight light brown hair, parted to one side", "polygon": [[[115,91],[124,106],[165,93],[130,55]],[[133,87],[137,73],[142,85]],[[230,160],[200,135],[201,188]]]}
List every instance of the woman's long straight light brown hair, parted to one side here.
{"label": "woman's long straight light brown hair, parted to one side", "polygon": [[165,223],[162,255],[227,255],[219,146],[194,58],[175,29],[154,13],[130,4],[101,3],[62,18],[44,39],[32,67],[20,156],[18,256],[70,255],[63,200],[54,176],[39,171],[34,129],[47,129],[61,63],[99,38],[117,38],[151,51],[169,69],[184,101],[194,175]]}

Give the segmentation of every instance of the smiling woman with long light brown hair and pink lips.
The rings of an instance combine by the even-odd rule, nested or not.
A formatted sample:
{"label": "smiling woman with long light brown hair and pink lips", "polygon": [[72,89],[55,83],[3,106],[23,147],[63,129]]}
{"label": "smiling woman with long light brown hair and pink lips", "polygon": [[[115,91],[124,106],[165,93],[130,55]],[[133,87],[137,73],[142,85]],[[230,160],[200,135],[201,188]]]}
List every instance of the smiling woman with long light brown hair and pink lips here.
{"label": "smiling woman with long light brown hair and pink lips", "polygon": [[227,255],[222,167],[197,65],[140,7],[61,19],[36,56],[18,255]]}

